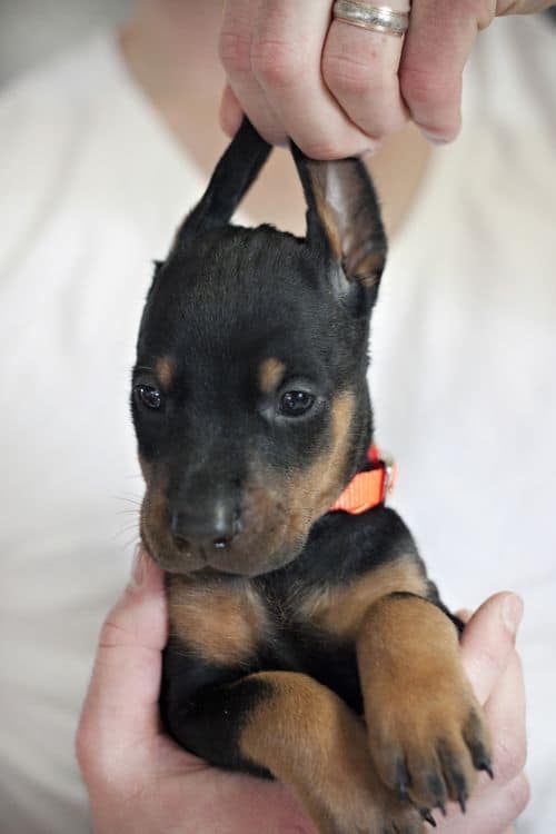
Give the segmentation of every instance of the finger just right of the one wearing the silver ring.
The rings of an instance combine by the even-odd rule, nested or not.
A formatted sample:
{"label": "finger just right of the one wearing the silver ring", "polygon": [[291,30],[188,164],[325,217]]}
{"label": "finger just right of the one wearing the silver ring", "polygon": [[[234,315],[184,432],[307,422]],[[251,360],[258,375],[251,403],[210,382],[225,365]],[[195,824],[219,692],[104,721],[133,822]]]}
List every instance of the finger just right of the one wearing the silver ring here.
{"label": "finger just right of the one wearing the silver ring", "polygon": [[459,132],[461,73],[492,0],[415,0],[400,66],[401,95],[413,120],[437,141]]}

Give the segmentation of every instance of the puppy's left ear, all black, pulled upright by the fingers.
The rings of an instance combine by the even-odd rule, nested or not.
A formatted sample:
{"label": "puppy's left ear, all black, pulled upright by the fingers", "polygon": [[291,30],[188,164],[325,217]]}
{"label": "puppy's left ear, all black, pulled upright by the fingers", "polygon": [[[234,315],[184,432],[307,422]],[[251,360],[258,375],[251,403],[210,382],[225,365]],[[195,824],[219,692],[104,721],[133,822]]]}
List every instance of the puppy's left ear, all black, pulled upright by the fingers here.
{"label": "puppy's left ear, all black, pulled upright by the fingers", "polygon": [[271,146],[244,118],[238,132],[220,158],[205,195],[178,229],[175,250],[181,249],[197,235],[229,222],[270,150]]}

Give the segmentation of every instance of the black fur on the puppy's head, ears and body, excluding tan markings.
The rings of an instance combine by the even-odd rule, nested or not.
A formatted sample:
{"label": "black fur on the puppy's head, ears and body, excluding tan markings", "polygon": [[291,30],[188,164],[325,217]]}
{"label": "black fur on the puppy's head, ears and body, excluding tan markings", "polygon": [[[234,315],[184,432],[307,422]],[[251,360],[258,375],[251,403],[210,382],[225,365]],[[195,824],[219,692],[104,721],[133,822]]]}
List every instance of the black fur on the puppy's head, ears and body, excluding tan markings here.
{"label": "black fur on the puppy's head, ears and body, excluding tan markings", "polygon": [[[152,555],[169,572],[190,573],[193,580],[218,576],[230,587],[251,583],[272,624],[271,639],[240,663],[217,664],[189,651],[183,639],[170,641],[161,695],[165,724],[181,745],[209,762],[262,775],[268,773],[242,761],[238,751],[246,716],[269,697],[268,686],[250,674],[302,672],[363,711],[354,645],[296,618],[296,598],[304,589],[354,582],[401,556],[425,577],[408,529],[384,506],[358,516],[321,514],[287,546],[261,538],[260,553],[262,533],[247,529],[256,524],[246,520],[246,485],[257,471],[261,490],[274,478],[288,484],[309,474],[331,446],[334,403],[346,391],[354,409],[341,486],[368,467],[369,316],[386,257],[376,196],[357,160],[327,168],[295,149],[308,202],[307,238],[269,226],[228,226],[268,151],[244,122],[157,268],[140,328],[132,397],[139,451],[165,490],[168,514],[192,506],[197,517],[209,518],[218,506],[241,516],[244,525],[237,540],[245,544],[237,545],[237,555],[236,538],[224,555],[191,545],[188,563],[176,548],[153,548],[146,536]],[[344,208],[336,205],[328,217],[341,244],[341,261],[322,217],[329,175],[345,183]],[[140,388],[159,386],[155,368],[161,357],[172,360],[171,388],[162,391],[160,408],[149,410],[141,405]],[[257,374],[268,358],[287,368],[287,380],[261,393]],[[295,419],[280,416],[280,396],[298,388],[315,397],[314,408]],[[244,569],[245,553],[251,555]],[[444,609],[435,586],[427,588],[430,602]]]}

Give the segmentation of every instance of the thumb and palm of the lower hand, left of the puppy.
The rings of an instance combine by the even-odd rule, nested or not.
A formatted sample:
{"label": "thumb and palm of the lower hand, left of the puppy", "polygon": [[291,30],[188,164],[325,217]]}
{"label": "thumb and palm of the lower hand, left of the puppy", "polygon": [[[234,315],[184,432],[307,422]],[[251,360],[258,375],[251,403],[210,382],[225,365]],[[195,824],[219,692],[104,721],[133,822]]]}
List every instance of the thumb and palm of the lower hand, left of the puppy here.
{"label": "thumb and palm of the lower hand, left of the puppy", "polygon": [[316,834],[278,782],[210,767],[162,733],[162,572],[141,553],[100,635],[77,735],[95,834]]}

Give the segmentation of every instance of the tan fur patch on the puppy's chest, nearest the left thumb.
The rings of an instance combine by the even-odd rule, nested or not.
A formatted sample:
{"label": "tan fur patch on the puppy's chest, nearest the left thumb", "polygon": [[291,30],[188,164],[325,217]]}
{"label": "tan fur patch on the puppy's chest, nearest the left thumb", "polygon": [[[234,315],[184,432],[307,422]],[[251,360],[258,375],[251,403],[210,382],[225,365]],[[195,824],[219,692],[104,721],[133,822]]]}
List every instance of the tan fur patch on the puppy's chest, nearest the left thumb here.
{"label": "tan fur patch on the puppy's chest, nearest the left thumb", "polygon": [[168,579],[170,629],[201,657],[224,665],[241,663],[269,634],[265,605],[249,583]]}

